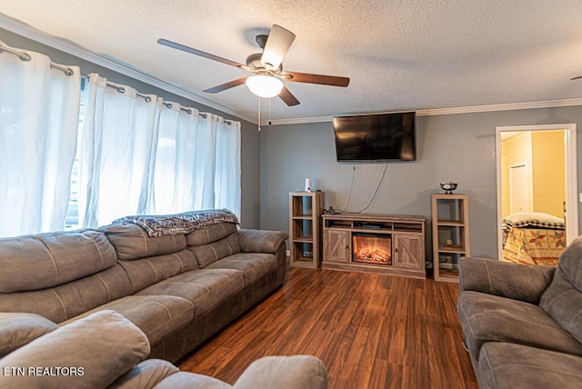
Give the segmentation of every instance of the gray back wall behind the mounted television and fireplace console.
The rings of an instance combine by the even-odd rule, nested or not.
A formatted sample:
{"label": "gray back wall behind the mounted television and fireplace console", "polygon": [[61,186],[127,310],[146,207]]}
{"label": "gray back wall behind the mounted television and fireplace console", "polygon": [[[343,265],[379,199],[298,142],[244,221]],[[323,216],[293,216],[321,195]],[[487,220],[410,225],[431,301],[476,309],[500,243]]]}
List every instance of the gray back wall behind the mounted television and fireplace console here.
{"label": "gray back wall behind the mounted television and fireplace console", "polygon": [[[416,162],[388,164],[376,201],[365,212],[430,219],[430,194],[439,193],[438,183],[457,182],[456,193],[469,195],[471,254],[497,258],[496,127],[568,123],[577,124],[578,133],[582,131],[582,107],[419,116]],[[346,209],[354,174],[346,210],[357,212],[368,204],[385,164],[339,164],[334,142],[331,123],[263,127],[262,228],[288,231],[288,192],[303,190],[306,177],[316,189],[325,191],[326,205]],[[577,142],[580,166],[582,135],[577,135]],[[577,171],[579,183],[582,168]],[[430,224],[426,231],[430,255]]]}

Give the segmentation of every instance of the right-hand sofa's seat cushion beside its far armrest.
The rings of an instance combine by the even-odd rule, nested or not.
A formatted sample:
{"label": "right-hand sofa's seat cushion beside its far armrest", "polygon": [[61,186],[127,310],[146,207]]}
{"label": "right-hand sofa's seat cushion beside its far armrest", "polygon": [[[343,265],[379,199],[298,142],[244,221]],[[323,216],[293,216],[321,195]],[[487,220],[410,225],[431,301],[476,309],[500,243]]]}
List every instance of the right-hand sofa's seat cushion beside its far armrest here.
{"label": "right-hand sofa's seat cushion beside its far armrest", "polygon": [[457,304],[467,347],[476,360],[486,342],[526,344],[582,355],[582,344],[537,305],[472,291],[460,294]]}

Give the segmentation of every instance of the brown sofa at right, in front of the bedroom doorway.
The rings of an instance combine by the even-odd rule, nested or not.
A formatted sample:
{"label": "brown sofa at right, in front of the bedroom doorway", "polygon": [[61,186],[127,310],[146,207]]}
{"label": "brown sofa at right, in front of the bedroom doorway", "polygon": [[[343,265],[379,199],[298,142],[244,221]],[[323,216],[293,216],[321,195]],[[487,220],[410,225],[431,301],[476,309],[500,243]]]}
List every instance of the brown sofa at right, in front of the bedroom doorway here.
{"label": "brown sofa at right, in front of the bedroom doorway", "polygon": [[557,267],[460,261],[457,311],[481,388],[582,388],[582,236]]}

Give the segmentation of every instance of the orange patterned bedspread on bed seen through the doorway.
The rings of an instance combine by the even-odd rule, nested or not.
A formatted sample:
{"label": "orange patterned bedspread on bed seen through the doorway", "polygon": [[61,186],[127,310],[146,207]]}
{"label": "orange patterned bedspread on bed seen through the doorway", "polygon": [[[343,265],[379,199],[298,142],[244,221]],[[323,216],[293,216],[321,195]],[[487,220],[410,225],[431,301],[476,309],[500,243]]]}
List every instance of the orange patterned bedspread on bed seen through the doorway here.
{"label": "orange patterned bedspread on bed seen through the doorway", "polygon": [[517,264],[557,265],[566,248],[563,229],[510,228],[503,246],[503,260]]}

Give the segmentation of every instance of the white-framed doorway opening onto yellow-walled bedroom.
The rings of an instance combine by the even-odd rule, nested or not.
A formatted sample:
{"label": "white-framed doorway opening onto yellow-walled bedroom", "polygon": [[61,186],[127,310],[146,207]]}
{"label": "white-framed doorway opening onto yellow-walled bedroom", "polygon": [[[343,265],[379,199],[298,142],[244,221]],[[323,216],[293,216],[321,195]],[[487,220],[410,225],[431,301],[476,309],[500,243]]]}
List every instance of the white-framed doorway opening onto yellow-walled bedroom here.
{"label": "white-framed doorway opening onto yellow-walled bedroom", "polygon": [[[570,244],[578,235],[578,210],[577,210],[577,143],[576,143],[576,124],[567,125],[519,125],[519,126],[503,126],[496,129],[496,143],[497,143],[497,246],[498,259],[503,259],[503,245],[507,235],[504,234],[503,223],[504,217],[510,213],[518,212],[523,214],[518,209],[527,209],[526,212],[542,210],[548,214],[556,217],[562,216],[565,227],[565,241]],[[550,156],[549,162],[541,165],[551,165],[551,169],[539,169],[535,167],[537,160],[536,153],[531,151],[521,154],[518,157],[507,156],[506,149],[502,147],[502,142],[507,138],[518,139],[521,138],[530,145],[536,144],[536,139],[546,139],[544,136],[551,135],[558,144],[562,144],[562,156]],[[537,142],[546,144],[547,141]],[[504,144],[505,145],[505,144]],[[503,152],[502,152],[503,148]],[[530,147],[530,150],[532,148]],[[533,148],[536,149],[535,147]],[[526,148],[527,150],[527,148]],[[516,158],[518,161],[516,161]],[[542,157],[543,159],[543,157]],[[537,165],[540,165],[537,162]],[[516,169],[516,170],[514,170]],[[540,178],[540,171],[546,170],[545,178]],[[536,175],[534,175],[536,171]],[[556,181],[558,173],[562,171],[563,178],[561,181]],[[515,175],[511,179],[510,175]],[[515,180],[514,190],[511,191],[510,181]],[[517,183],[518,181],[518,183]],[[557,186],[554,184],[559,182]],[[536,185],[534,185],[536,183]],[[525,188],[523,186],[526,186]],[[546,190],[546,194],[538,194],[537,201],[535,201],[535,186],[541,187],[542,191]],[[556,190],[559,189],[559,190]],[[512,194],[509,194],[510,191]],[[520,191],[516,194],[515,191]],[[512,197],[517,197],[512,201]],[[543,199],[549,199],[545,204]],[[516,202],[519,202],[516,204]],[[513,208],[513,209],[512,209]],[[506,230],[507,232],[507,230]]]}

